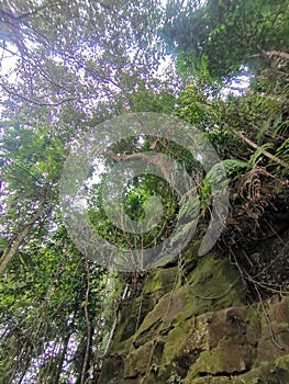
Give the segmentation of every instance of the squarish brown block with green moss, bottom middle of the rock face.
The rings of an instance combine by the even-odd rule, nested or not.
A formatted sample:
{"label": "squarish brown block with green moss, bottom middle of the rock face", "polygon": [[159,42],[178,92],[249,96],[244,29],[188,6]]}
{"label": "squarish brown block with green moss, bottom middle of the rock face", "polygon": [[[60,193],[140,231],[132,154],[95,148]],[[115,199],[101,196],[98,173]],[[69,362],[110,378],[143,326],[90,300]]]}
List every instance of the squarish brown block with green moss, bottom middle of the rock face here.
{"label": "squarish brown block with green moss, bottom middle of the rock face", "polygon": [[[245,315],[245,307],[231,307],[196,319],[194,330],[187,337],[189,342],[184,349],[184,353],[190,354],[191,348],[199,351],[196,361],[189,365],[188,380],[193,382],[198,376],[221,376],[223,372],[233,375],[251,369],[256,359],[257,339],[248,342]],[[190,341],[191,336],[194,336],[194,345]]]}

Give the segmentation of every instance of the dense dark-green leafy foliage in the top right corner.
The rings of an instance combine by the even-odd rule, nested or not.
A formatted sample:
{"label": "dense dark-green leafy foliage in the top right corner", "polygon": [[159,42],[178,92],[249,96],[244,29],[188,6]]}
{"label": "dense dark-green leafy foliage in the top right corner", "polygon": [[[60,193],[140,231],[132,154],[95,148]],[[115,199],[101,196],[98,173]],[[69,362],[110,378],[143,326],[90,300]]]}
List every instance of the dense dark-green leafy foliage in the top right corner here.
{"label": "dense dark-green leafy foliage in the top right corner", "polygon": [[258,70],[266,52],[287,49],[288,1],[190,1],[178,11],[169,1],[165,35],[184,67],[196,68],[205,58],[214,78],[236,75],[245,66]]}

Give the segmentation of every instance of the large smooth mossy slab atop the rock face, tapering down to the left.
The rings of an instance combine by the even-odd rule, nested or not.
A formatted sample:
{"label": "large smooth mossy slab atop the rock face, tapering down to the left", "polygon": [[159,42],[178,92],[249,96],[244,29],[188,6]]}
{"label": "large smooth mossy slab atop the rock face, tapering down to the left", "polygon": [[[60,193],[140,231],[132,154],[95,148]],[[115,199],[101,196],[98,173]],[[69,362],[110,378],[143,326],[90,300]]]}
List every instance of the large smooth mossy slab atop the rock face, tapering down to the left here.
{"label": "large smooth mossy slab atop the rock face, tapering down to the left", "polygon": [[192,316],[242,305],[243,287],[237,276],[234,268],[224,260],[214,255],[203,257],[190,280],[165,294],[146,316],[136,332],[136,343],[142,345],[157,335],[160,327],[164,330],[176,328]]}

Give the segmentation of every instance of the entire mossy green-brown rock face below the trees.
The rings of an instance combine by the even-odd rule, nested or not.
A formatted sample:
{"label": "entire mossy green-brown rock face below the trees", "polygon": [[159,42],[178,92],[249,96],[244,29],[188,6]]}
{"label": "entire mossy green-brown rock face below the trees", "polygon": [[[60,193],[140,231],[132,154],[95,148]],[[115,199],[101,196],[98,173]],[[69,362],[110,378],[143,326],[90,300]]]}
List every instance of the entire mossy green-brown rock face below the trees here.
{"label": "entire mossy green-brown rock face below the trees", "polygon": [[192,248],[123,303],[99,383],[289,383],[289,297],[246,305],[234,267]]}

